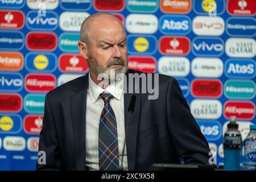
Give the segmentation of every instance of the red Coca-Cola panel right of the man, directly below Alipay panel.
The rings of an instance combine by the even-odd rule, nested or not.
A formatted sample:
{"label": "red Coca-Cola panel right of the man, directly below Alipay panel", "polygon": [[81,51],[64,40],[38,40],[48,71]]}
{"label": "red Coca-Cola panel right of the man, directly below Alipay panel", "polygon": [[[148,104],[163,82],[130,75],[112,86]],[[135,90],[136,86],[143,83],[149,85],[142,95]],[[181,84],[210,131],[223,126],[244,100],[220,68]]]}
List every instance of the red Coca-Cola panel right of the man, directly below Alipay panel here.
{"label": "red Coca-Cola panel right of the man, directly below Alipay panel", "polygon": [[191,93],[194,97],[218,98],[222,94],[222,83],[220,80],[193,80]]}

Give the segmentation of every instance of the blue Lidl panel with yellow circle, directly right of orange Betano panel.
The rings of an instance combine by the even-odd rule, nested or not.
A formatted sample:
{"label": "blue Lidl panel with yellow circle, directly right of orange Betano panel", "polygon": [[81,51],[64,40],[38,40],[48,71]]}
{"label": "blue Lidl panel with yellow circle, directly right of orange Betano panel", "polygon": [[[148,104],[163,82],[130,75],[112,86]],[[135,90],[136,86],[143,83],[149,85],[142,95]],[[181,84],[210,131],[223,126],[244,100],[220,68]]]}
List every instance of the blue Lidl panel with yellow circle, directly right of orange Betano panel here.
{"label": "blue Lidl panel with yellow circle, directly right of orange Betano panel", "polygon": [[28,71],[52,72],[56,67],[56,56],[53,53],[28,53],[26,56],[26,69]]}

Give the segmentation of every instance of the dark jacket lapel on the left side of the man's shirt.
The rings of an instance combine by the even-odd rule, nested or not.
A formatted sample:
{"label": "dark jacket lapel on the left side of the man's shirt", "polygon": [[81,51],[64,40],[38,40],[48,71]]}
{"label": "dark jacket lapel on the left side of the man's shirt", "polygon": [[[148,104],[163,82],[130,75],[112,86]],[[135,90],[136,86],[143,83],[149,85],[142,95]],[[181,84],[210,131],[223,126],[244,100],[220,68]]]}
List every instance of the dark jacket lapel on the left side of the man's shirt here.
{"label": "dark jacket lapel on the left side of the man's shirt", "polygon": [[88,74],[74,87],[75,94],[70,97],[71,117],[75,144],[76,170],[85,170],[85,118]]}

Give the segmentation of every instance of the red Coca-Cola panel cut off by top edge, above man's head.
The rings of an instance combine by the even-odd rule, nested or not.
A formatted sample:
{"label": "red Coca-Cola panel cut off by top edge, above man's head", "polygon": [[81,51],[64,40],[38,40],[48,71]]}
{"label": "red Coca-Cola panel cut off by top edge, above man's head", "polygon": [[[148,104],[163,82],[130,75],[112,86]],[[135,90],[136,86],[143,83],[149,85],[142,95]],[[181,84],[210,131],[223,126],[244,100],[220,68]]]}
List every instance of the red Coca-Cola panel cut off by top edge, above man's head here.
{"label": "red Coca-Cola panel cut off by top edge, above man's head", "polygon": [[94,8],[98,11],[122,11],[125,7],[124,0],[95,0]]}

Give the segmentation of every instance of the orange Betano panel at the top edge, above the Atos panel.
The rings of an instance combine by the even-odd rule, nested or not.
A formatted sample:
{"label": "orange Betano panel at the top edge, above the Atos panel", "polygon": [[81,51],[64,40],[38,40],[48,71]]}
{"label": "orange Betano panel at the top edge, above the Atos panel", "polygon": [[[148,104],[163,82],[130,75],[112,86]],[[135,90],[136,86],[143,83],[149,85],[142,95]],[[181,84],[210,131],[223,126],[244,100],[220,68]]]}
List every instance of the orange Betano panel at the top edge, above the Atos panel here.
{"label": "orange Betano panel at the top edge, above the Atos panel", "polygon": [[187,14],[191,11],[191,0],[161,0],[160,9],[163,13]]}

